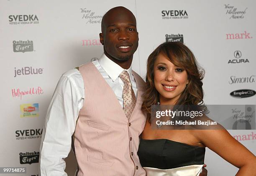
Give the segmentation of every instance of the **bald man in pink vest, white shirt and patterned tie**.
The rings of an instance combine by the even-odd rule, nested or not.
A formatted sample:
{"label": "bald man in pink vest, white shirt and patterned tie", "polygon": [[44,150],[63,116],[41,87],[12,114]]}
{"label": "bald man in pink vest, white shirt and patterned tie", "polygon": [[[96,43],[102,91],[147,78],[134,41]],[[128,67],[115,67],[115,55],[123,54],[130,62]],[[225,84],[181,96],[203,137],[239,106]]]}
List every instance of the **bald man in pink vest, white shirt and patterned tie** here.
{"label": "bald man in pink vest, white shirt and patterned tie", "polygon": [[98,61],[64,73],[54,91],[40,147],[41,176],[65,176],[70,148],[78,176],[146,176],[137,156],[146,114],[143,79],[131,70],[136,18],[124,7],[102,18]]}

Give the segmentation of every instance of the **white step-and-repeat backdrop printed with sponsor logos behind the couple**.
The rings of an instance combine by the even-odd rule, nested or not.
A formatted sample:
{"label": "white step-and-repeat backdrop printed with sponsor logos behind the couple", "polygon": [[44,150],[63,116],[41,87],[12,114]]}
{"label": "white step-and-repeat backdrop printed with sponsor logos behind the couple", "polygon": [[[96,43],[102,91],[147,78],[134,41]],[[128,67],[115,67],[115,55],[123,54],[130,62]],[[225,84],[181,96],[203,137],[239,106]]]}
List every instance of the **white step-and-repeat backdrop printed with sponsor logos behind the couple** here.
{"label": "white step-and-repeat backdrop printed with sponsor logos behind the couple", "polygon": [[[42,128],[54,88],[62,73],[100,58],[102,16],[115,6],[136,16],[133,70],[143,78],[148,55],[165,41],[179,41],[205,69],[205,104],[256,104],[254,0],[1,0],[0,167],[26,167],[20,175],[39,175]],[[229,132],[256,154],[256,130]],[[66,161],[74,175],[72,152]],[[208,149],[205,163],[208,176],[238,171]]]}

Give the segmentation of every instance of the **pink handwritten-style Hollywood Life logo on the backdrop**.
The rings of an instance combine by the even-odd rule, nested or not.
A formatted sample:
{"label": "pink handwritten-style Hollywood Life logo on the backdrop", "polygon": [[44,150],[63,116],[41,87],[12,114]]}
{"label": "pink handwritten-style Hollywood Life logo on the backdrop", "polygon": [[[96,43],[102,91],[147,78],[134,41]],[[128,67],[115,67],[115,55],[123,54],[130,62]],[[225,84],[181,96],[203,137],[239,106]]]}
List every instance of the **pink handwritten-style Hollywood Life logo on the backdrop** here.
{"label": "pink handwritten-style Hollywood Life logo on the backdrop", "polygon": [[44,93],[41,87],[28,88],[26,91],[21,91],[20,88],[12,89],[13,98],[20,98],[22,100],[23,96],[32,96],[32,95],[42,95]]}

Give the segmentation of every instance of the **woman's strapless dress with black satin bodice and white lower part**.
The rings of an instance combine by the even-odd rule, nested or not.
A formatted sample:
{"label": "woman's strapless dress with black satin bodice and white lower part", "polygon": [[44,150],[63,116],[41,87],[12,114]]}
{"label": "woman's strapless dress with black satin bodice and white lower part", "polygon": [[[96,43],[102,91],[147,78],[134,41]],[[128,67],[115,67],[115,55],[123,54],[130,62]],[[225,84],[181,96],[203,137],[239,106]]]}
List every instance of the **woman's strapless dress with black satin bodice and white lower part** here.
{"label": "woman's strapless dress with black satin bodice and white lower part", "polygon": [[199,176],[205,147],[168,139],[141,139],[138,157],[147,176]]}

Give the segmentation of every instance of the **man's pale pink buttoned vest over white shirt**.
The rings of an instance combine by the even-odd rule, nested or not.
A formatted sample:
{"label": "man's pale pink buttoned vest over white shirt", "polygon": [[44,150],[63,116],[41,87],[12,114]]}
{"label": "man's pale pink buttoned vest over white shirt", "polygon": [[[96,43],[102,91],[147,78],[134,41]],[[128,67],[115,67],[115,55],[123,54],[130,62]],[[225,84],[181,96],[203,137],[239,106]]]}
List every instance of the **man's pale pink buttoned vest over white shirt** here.
{"label": "man's pale pink buttoned vest over white shirt", "polygon": [[141,111],[143,79],[133,71],[138,97],[128,121],[115,96],[93,63],[79,67],[84,80],[84,105],[74,132],[78,176],[146,176],[137,151],[146,122]]}

